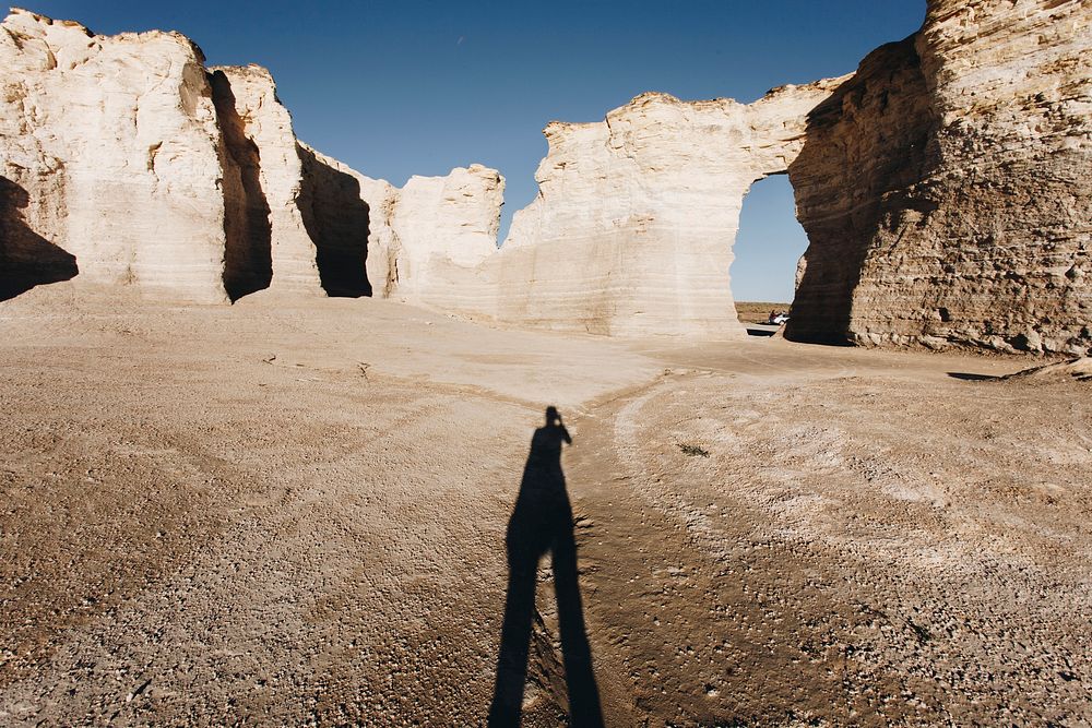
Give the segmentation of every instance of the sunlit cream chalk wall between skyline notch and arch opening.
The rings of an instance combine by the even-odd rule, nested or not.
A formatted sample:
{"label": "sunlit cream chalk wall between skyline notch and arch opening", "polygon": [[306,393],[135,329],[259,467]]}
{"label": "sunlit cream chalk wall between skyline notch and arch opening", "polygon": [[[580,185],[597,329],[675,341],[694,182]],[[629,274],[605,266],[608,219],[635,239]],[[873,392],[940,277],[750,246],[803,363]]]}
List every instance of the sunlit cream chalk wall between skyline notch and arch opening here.
{"label": "sunlit cream chalk wall between skyline notch and arch opening", "polygon": [[750,186],[784,172],[839,80],[758,102],[643,94],[598,123],[550,123],[538,198],[515,214],[497,317],[598,334],[741,336],[728,279]]}

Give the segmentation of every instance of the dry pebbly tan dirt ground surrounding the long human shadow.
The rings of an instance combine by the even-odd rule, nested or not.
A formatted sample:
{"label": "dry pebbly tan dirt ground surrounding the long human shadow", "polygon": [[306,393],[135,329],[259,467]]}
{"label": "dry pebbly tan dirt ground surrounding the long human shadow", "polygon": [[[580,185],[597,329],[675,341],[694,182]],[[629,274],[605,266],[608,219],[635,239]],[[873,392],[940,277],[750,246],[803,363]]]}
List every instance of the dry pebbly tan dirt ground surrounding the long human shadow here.
{"label": "dry pebbly tan dirt ground surrounding the long human shadow", "polygon": [[1087,382],[69,285],[0,303],[0,725],[485,723],[547,405],[606,725],[1092,721]]}

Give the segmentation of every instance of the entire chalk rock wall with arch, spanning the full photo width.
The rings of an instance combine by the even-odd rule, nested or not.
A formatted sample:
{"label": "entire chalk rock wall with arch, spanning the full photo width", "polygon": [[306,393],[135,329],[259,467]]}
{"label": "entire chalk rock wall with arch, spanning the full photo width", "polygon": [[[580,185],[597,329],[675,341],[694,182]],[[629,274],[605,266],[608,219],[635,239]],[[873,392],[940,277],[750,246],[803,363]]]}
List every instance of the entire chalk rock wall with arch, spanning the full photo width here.
{"label": "entire chalk rock wall with arch, spanning the full photo width", "polygon": [[1092,5],[929,0],[852,76],[753,104],[643,94],[553,122],[497,249],[503,178],[399,189],[298,142],[259,67],[175,33],[0,25],[0,300],[75,278],[227,301],[380,296],[515,325],[740,336],[743,199],[788,172],[809,248],[787,336],[1092,347]]}

